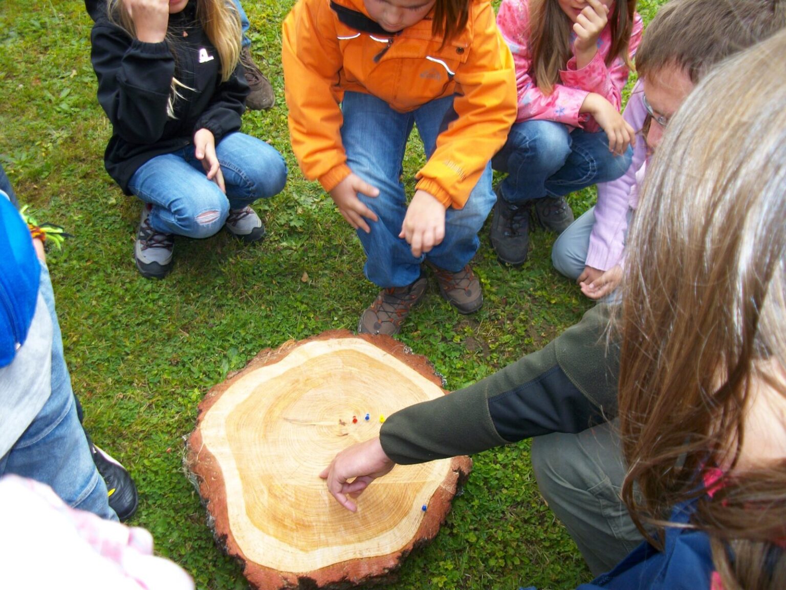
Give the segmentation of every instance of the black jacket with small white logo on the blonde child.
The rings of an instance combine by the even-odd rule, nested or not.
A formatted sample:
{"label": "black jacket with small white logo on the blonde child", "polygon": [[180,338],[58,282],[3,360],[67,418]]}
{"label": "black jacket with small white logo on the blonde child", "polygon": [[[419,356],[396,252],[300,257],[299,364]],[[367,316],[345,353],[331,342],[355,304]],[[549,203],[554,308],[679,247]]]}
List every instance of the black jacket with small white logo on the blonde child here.
{"label": "black jacket with small white logo on the blonde child", "polygon": [[[126,194],[142,164],[188,146],[202,127],[213,133],[216,145],[240,129],[248,96],[242,66],[221,82],[219,54],[196,21],[196,2],[171,15],[167,41],[141,42],[103,15],[90,39],[98,101],[112,122],[104,163]],[[182,98],[174,101],[171,118],[173,76],[185,87],[178,87]]]}

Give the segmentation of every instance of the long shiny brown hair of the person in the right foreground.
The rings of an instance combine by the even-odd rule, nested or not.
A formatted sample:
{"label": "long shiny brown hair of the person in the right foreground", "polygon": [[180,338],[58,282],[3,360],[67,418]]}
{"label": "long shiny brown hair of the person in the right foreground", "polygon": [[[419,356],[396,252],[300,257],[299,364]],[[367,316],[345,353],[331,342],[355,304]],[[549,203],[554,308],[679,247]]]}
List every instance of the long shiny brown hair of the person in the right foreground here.
{"label": "long shiny brown hair of the person in the right foreground", "polygon": [[738,465],[762,436],[745,428],[759,388],[786,397],[784,55],[786,31],[733,57],[670,122],[614,321],[623,500],[659,544],[644,523],[662,534],[675,504],[698,499],[690,526],[710,535],[726,590],[786,588],[786,455]]}

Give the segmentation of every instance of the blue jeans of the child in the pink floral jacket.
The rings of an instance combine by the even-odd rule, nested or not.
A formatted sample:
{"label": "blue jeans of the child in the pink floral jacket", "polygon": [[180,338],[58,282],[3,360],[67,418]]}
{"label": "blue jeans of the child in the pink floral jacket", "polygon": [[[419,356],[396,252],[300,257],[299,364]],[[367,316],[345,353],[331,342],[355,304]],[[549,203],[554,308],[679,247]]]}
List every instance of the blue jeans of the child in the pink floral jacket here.
{"label": "blue jeans of the child in the pink floral jacket", "polygon": [[529,120],[513,124],[491,162],[494,170],[508,173],[501,183],[505,201],[518,203],[608,183],[623,175],[632,158],[630,146],[622,156],[609,152],[603,131],[568,131],[554,121]]}

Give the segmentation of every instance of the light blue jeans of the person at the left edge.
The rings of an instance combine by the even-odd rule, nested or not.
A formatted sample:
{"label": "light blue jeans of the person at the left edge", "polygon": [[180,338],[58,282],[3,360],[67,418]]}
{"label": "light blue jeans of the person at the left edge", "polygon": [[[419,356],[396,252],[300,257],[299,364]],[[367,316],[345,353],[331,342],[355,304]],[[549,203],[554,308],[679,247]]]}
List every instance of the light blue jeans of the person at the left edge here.
{"label": "light blue jeans of the person at the left edge", "polygon": [[[11,450],[0,458],[0,475],[17,474],[47,485],[69,506],[117,520],[109,507],[106,485],[98,474],[82,425],[76,415],[74,393],[63,356],[63,342],[57,316],[54,315],[52,282],[42,264],[42,298],[52,319],[51,393],[46,404]],[[24,348],[24,346],[22,347]],[[31,374],[44,363],[40,359],[20,357]],[[17,360],[14,361],[15,363]],[[19,382],[19,387],[26,383]]]}

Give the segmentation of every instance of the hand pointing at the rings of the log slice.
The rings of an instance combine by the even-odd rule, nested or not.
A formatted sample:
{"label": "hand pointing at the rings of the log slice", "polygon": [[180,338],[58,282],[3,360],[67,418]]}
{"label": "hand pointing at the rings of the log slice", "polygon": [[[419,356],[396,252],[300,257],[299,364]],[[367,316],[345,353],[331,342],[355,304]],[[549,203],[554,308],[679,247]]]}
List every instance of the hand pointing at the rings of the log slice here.
{"label": "hand pointing at the rings of the log slice", "polygon": [[380,438],[376,437],[345,448],[319,477],[327,480],[328,490],[338,503],[355,512],[358,506],[349,496],[357,498],[372,481],[393,467],[395,463],[385,455]]}

